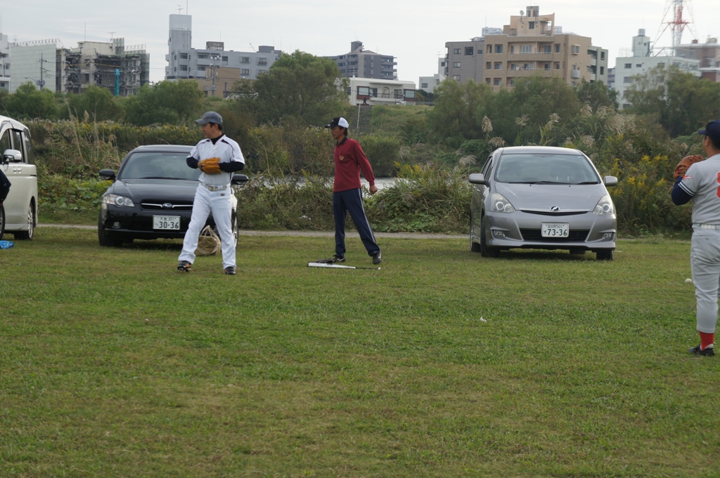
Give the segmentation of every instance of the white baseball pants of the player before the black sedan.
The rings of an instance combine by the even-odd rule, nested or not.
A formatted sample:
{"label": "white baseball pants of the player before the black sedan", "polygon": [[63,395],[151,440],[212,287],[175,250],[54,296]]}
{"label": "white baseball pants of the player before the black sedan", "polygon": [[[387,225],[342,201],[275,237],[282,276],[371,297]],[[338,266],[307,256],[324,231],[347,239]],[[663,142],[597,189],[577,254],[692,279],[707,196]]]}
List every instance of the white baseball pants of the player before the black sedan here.
{"label": "white baseball pants of the player before the black sedan", "polygon": [[185,233],[182,243],[182,252],[179,261],[195,262],[195,249],[202,228],[205,226],[207,216],[212,213],[215,220],[217,232],[220,236],[220,249],[222,250],[222,268],[235,267],[235,237],[233,236],[233,225],[231,224],[233,210],[230,203],[230,195],[233,190],[228,186],[219,191],[211,191],[200,184],[195,192],[195,199],[192,203],[192,216],[190,225]]}

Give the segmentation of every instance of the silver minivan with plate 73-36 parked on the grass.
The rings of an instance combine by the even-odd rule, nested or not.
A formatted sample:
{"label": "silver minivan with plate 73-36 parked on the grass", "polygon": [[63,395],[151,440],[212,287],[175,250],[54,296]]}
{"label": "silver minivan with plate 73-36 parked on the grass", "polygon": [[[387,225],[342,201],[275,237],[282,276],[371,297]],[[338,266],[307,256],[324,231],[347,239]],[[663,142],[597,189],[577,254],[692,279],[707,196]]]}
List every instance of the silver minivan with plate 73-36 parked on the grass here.
{"label": "silver minivan with plate 73-36 parked on the grass", "polygon": [[606,187],[618,180],[601,178],[579,150],[499,148],[469,181],[470,249],[483,257],[529,248],[613,259],[617,218]]}

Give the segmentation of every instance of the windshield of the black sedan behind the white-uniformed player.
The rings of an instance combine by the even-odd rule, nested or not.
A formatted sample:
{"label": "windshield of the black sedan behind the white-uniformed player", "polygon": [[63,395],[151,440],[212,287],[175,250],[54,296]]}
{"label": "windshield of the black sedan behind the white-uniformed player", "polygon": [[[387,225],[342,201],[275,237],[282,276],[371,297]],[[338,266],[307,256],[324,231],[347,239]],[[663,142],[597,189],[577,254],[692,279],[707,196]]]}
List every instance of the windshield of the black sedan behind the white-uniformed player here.
{"label": "windshield of the black sedan behind the white-uniformed player", "polygon": [[188,167],[186,152],[135,152],[122,163],[117,178],[198,180],[200,170]]}

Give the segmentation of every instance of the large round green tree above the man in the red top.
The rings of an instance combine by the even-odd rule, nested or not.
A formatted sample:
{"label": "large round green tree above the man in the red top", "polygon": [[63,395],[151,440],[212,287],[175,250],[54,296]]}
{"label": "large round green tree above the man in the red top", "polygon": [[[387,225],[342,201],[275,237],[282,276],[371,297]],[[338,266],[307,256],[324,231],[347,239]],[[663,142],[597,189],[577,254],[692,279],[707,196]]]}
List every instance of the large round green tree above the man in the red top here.
{"label": "large round green tree above the man in the red top", "polygon": [[325,124],[347,103],[346,80],[329,58],[295,50],[283,53],[254,81],[236,83],[240,108],[255,112],[261,123],[279,124],[287,117],[305,124]]}

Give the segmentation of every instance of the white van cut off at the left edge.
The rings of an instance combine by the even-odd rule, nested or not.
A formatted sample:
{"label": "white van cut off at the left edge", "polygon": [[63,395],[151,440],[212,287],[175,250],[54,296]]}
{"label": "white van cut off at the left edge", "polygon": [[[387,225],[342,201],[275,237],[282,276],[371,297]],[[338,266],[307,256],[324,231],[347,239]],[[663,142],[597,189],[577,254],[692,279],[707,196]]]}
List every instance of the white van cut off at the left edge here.
{"label": "white van cut off at the left edge", "polygon": [[12,232],[15,239],[32,240],[37,226],[37,167],[32,155],[30,129],[0,116],[0,169],[10,180],[10,193],[0,208],[0,239]]}

